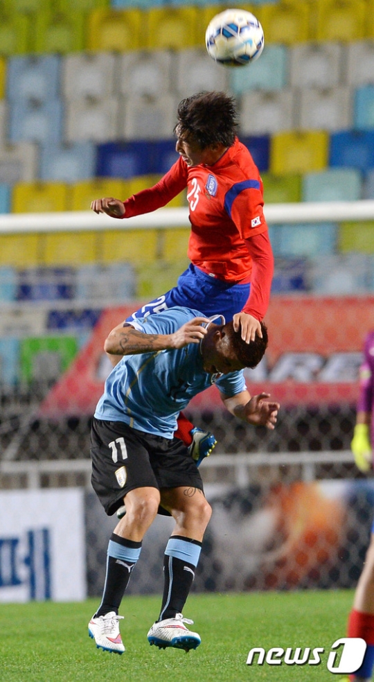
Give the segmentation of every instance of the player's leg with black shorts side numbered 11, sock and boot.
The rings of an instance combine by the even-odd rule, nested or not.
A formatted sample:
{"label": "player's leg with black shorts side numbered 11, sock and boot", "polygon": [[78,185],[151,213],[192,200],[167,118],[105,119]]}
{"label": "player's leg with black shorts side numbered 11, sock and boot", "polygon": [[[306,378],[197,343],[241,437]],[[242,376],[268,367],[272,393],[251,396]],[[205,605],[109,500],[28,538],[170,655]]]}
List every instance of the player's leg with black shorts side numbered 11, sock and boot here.
{"label": "player's leg with black shorts side numbered 11, sock and boot", "polygon": [[143,536],[157,514],[160,493],[139,432],[126,424],[94,419],[91,458],[92,485],[105,511],[111,516],[125,501],[127,514],[109,539],[103,597],[89,622],[89,636],[97,647],[122,654],[118,609]]}

